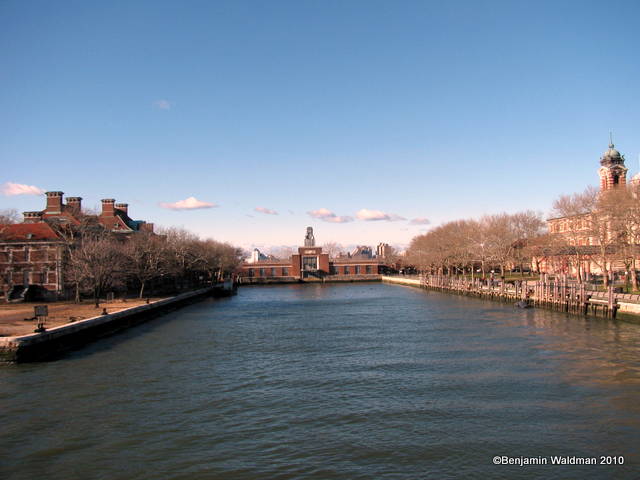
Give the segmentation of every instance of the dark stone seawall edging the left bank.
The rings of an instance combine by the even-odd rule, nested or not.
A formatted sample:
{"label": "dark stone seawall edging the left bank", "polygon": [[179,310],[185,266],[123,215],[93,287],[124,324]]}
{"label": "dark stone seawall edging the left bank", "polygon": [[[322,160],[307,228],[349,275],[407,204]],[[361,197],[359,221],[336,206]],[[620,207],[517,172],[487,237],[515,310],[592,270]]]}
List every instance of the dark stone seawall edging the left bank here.
{"label": "dark stone seawall edging the left bank", "polygon": [[222,293],[219,287],[203,288],[147,305],[68,323],[42,333],[0,337],[0,361],[18,363],[45,360],[218,293]]}

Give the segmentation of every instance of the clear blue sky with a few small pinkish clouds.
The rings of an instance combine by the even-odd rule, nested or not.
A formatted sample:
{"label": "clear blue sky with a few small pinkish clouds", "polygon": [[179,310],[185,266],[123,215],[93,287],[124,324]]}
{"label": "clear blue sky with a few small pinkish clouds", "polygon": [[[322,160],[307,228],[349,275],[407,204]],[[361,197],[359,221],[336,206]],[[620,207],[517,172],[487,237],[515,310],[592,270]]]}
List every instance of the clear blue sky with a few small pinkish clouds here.
{"label": "clear blue sky with a few small pinkish clouds", "polygon": [[406,245],[640,159],[640,2],[0,0],[0,209]]}

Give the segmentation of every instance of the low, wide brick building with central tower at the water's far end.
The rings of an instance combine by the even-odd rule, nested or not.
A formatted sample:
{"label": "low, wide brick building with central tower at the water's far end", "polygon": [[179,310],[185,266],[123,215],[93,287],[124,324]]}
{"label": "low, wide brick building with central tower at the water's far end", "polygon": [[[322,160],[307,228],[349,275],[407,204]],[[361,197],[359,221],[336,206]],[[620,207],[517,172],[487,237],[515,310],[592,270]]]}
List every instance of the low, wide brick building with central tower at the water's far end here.
{"label": "low, wide brick building with central tower at the water's far end", "polygon": [[384,259],[374,257],[370,247],[356,250],[366,254],[329,258],[315,245],[313,229],[308,227],[304,246],[289,259],[253,259],[242,265],[239,276],[245,283],[377,279],[386,268]]}

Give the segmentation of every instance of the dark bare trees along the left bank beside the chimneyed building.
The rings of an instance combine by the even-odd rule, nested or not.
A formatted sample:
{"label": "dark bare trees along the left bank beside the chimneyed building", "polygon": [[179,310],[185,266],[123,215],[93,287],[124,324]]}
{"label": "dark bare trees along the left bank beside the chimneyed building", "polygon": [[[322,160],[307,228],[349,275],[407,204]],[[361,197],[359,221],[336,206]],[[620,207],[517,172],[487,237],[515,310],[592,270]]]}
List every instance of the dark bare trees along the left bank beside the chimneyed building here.
{"label": "dark bare trees along the left bank beside the chimneyed building", "polygon": [[158,234],[106,232],[91,216],[80,225],[53,225],[63,239],[63,270],[76,301],[91,293],[136,289],[140,298],[154,286],[179,291],[220,281],[242,262],[228,243],[200,239],[182,228]]}

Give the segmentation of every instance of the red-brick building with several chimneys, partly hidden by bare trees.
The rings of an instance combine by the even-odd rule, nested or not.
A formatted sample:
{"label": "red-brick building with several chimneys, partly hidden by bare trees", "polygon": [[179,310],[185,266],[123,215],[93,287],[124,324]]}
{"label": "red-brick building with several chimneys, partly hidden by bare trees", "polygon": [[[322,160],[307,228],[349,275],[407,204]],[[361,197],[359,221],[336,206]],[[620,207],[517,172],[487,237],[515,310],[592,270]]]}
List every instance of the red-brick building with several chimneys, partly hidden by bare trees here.
{"label": "red-brick building with several chimneys, partly hidden by bare trees", "polygon": [[[44,210],[24,212],[22,223],[0,225],[0,294],[6,300],[55,299],[64,291],[65,241],[52,226],[80,225],[86,218],[118,234],[153,232],[153,224],[129,217],[126,203],[102,200],[97,215],[82,211],[81,197],[46,192]],[[99,228],[99,227],[98,227]]]}

